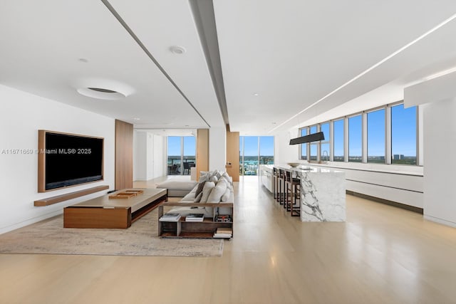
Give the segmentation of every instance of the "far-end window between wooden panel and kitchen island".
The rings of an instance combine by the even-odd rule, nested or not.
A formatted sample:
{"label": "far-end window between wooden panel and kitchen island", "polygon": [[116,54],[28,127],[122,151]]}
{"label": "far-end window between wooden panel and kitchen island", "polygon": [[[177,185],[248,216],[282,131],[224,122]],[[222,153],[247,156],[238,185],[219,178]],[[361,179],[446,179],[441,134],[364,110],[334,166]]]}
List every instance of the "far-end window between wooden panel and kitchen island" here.
{"label": "far-end window between wooden panel and kitchen island", "polygon": [[258,175],[259,164],[274,164],[274,137],[239,136],[239,174]]}

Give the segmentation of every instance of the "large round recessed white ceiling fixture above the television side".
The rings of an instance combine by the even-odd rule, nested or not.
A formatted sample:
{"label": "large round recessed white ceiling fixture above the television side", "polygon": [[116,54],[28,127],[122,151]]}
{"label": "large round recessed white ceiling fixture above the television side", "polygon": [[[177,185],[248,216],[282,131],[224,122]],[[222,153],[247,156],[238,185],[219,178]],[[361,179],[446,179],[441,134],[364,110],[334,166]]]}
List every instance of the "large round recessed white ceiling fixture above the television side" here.
{"label": "large round recessed white ceiling fixture above the television side", "polygon": [[135,93],[130,85],[100,78],[77,80],[75,87],[81,95],[102,100],[119,100]]}

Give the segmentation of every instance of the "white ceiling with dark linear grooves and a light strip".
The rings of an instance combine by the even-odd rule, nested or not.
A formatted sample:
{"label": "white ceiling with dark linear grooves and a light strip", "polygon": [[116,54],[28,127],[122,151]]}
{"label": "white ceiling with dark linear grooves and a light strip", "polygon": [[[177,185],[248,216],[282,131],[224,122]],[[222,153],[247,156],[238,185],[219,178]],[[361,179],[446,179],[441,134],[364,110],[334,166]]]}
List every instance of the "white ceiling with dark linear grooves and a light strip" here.
{"label": "white ceiling with dark linear grooves and a light strip", "polygon": [[[0,83],[136,129],[272,134],[456,66],[455,14],[454,0],[1,0]],[[76,92],[90,83],[133,93]]]}

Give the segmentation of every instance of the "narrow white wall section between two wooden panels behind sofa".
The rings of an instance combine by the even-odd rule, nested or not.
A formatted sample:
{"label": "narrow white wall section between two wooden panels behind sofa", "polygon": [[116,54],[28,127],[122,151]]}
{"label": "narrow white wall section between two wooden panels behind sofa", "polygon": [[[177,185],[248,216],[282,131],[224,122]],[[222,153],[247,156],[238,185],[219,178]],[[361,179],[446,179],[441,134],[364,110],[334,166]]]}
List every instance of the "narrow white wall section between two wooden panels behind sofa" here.
{"label": "narrow white wall section between two wooden panels behind sofa", "polygon": [[209,129],[209,170],[225,171],[227,163],[227,130],[224,127]]}

